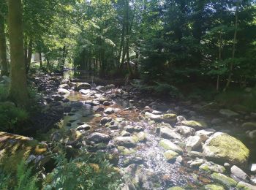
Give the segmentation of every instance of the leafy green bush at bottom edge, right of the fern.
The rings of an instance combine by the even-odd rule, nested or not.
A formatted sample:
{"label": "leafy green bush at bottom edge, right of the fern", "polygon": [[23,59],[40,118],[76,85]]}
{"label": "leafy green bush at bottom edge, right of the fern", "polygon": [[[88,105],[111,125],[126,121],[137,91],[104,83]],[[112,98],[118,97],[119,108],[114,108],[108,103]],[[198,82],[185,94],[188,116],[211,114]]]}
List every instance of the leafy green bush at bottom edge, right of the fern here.
{"label": "leafy green bush at bottom edge, right of the fern", "polygon": [[56,156],[57,167],[48,174],[43,189],[119,189],[121,180],[103,155],[82,153],[68,161]]}

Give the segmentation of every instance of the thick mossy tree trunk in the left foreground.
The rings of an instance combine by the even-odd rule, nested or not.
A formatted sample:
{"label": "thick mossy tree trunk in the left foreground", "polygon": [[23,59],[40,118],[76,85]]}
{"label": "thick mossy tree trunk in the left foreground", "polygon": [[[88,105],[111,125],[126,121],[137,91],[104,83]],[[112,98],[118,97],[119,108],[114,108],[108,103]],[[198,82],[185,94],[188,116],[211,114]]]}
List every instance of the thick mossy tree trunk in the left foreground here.
{"label": "thick mossy tree trunk in the left foreground", "polygon": [[23,24],[21,0],[8,0],[11,83],[9,98],[21,107],[28,105],[29,93],[26,82],[26,66],[23,53]]}

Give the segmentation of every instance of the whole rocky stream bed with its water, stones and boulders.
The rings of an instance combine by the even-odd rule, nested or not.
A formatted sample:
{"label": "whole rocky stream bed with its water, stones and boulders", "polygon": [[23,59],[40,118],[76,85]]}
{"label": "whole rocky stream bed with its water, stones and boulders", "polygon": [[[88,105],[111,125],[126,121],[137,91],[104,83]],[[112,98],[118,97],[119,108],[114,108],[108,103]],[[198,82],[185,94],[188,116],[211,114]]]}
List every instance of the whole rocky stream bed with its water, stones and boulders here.
{"label": "whole rocky stream bed with its water, stones and boulders", "polygon": [[44,74],[32,80],[45,110],[61,115],[50,141],[70,154],[109,153],[123,189],[256,189],[255,113],[154,99],[132,86]]}

